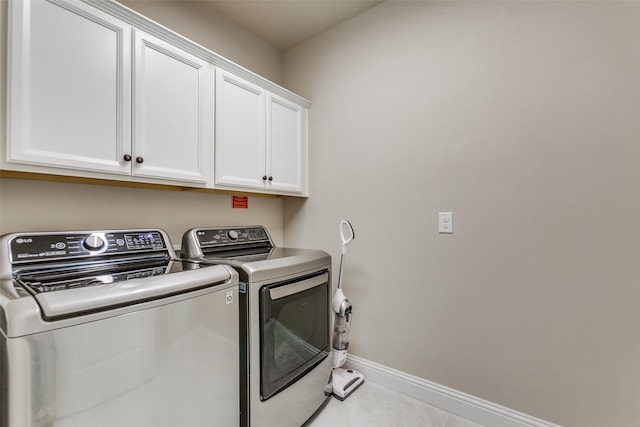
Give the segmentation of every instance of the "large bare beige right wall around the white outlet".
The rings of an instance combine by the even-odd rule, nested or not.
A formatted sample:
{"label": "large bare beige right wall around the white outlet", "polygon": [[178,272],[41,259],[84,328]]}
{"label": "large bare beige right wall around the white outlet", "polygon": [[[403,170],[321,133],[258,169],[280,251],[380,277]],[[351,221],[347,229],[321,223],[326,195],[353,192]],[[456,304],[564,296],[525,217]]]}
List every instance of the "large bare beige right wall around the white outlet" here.
{"label": "large bare beige right wall around the white outlet", "polygon": [[337,269],[352,221],[353,354],[640,426],[639,3],[388,1],[286,52],[284,82],[313,102],[285,243]]}

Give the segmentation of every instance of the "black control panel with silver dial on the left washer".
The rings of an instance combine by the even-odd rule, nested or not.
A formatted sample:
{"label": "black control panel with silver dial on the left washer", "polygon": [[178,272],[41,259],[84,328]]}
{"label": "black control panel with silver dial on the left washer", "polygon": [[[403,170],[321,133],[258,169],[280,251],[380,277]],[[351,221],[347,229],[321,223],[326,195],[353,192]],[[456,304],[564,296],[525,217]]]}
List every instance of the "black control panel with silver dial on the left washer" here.
{"label": "black control panel with silver dial on the left washer", "polygon": [[10,241],[14,263],[162,251],[167,244],[159,230],[28,233]]}

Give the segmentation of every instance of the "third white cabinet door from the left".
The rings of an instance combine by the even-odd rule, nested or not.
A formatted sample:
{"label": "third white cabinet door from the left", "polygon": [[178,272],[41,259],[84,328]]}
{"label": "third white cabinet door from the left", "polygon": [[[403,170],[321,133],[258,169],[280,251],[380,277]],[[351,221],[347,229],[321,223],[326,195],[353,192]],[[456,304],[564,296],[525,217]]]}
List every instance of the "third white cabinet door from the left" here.
{"label": "third white cabinet door from the left", "polygon": [[265,91],[216,70],[215,184],[265,188]]}

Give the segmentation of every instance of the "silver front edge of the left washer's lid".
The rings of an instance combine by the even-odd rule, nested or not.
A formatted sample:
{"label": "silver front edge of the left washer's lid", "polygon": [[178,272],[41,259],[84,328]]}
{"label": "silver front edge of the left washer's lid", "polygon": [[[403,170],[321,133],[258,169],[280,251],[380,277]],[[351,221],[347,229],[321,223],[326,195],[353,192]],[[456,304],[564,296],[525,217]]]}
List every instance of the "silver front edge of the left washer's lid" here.
{"label": "silver front edge of the left washer's lid", "polygon": [[238,273],[228,266],[183,270],[175,274],[34,295],[17,280],[0,279],[0,330],[19,337],[74,326],[115,315],[197,298],[238,286]]}

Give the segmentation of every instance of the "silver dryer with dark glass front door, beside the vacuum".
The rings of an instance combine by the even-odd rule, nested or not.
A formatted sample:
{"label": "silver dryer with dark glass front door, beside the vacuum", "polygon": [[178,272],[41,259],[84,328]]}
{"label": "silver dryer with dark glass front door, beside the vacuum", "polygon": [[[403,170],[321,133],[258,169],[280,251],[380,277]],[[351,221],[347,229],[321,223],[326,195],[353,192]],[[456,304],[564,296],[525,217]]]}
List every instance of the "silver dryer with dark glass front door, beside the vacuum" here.
{"label": "silver dryer with dark glass front door, beside the vacuum", "polygon": [[239,273],[240,425],[304,424],[331,394],[330,255],[242,226],[188,230],[181,256]]}

